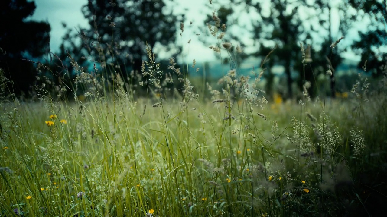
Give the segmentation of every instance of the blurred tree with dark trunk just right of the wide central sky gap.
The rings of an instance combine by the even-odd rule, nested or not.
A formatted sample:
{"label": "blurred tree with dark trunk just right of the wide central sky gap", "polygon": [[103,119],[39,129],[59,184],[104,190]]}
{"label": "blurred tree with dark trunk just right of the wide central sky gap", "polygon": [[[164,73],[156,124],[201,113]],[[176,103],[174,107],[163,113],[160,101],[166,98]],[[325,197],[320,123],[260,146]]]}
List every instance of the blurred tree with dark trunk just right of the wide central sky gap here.
{"label": "blurred tree with dark trunk just right of the wide central sky gap", "polygon": [[[258,49],[241,53],[240,59],[236,59],[235,63],[240,63],[248,56],[261,57],[262,59],[272,50],[277,44],[277,48],[269,57],[269,66],[276,64],[284,67],[286,80],[287,80],[287,94],[288,97],[293,96],[293,64],[295,63],[296,56],[300,53],[299,39],[303,34],[301,26],[301,19],[298,14],[298,6],[300,3],[294,0],[272,0],[270,6],[268,2],[264,0],[259,1],[243,1],[232,0],[226,7],[221,7],[217,12],[217,16],[224,22],[228,29],[236,26],[239,29],[250,29],[251,36],[255,40],[253,46],[259,47]],[[232,8],[244,8],[249,16],[241,18],[239,11]],[[269,11],[267,11],[269,8]],[[233,16],[236,13],[237,16]],[[205,22],[209,22],[211,19],[207,19]],[[252,25],[252,28],[247,28],[248,24]],[[234,25],[234,26],[233,26]],[[221,29],[221,28],[219,28]],[[219,34],[221,35],[221,34]],[[217,36],[219,39],[219,36]],[[241,32],[227,33],[227,39],[224,41],[237,41],[242,47],[246,45],[243,43],[242,37],[246,37],[246,34]],[[251,45],[250,45],[251,46]],[[264,77],[268,79],[267,90],[272,90],[272,83],[274,81],[274,75],[271,72],[271,68],[264,73]],[[269,93],[270,94],[270,93]]]}

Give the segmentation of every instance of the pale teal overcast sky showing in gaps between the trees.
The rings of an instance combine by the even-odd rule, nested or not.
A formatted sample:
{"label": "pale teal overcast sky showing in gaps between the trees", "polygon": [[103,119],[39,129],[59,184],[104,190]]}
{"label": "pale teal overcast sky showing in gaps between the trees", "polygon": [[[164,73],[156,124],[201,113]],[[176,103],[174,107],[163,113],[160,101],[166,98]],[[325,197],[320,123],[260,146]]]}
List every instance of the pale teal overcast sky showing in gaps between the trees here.
{"label": "pale teal overcast sky showing in gaps between the trees", "polygon": [[[227,1],[227,0],[226,0]],[[185,61],[192,61],[192,59],[196,59],[197,61],[215,61],[216,58],[208,47],[211,45],[203,44],[200,42],[199,37],[204,37],[204,34],[201,34],[197,30],[197,26],[204,25],[204,20],[207,14],[211,14],[211,12],[217,8],[217,5],[212,5],[214,8],[205,7],[205,3],[208,0],[195,0],[194,2],[191,0],[180,0],[175,1],[173,8],[175,12],[182,12],[184,8],[188,8],[188,11],[185,12],[186,15],[186,24],[183,32],[183,36],[178,36],[178,43],[183,44],[183,49],[185,53],[188,53],[189,56],[185,56]],[[217,1],[213,1],[217,2]],[[88,24],[84,19],[84,16],[81,12],[82,5],[87,3],[87,0],[35,0],[36,3],[36,11],[32,17],[34,20],[44,20],[48,21],[51,25],[51,39],[50,46],[51,51],[58,51],[58,47],[62,42],[62,37],[65,34],[65,29],[62,27],[62,22],[67,24],[70,28],[75,28],[78,26],[87,27]],[[177,4],[177,5],[176,5]],[[237,10],[238,8],[236,8]],[[243,20],[244,17],[251,17],[253,14],[242,13],[243,8],[241,9],[241,13],[238,14],[239,19]],[[333,14],[332,20],[334,20],[333,29],[337,32],[337,27],[339,25],[335,20],[338,19],[338,14]],[[192,21],[192,26],[189,25],[189,22]],[[244,42],[252,43],[253,40],[249,37],[249,32],[247,29],[229,29],[229,31],[240,32],[241,35],[244,35]],[[180,32],[179,32],[180,33]],[[199,33],[201,35],[196,36]],[[353,36],[356,34],[356,31],[351,32]],[[338,38],[341,36],[337,36]],[[348,38],[348,36],[347,36]],[[349,36],[351,38],[351,36]],[[190,44],[187,42],[191,40]],[[346,42],[342,42],[346,43]],[[349,44],[349,42],[347,41]],[[248,48],[246,48],[248,49]],[[163,56],[162,48],[159,47],[158,51],[159,56]],[[357,60],[359,57],[354,56],[351,53],[347,53],[344,55],[346,58]]]}

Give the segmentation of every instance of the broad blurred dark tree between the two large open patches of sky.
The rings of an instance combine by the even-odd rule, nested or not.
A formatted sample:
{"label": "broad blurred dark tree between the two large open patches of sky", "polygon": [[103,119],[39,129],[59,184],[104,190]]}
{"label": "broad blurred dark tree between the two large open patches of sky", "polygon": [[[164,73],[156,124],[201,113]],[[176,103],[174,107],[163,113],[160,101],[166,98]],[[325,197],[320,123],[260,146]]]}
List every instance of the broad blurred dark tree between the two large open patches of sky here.
{"label": "broad blurred dark tree between the two large open patches of sky", "polygon": [[177,20],[168,9],[165,0],[89,0],[82,12],[90,28],[79,30],[83,49],[75,59],[92,57],[102,68],[114,66],[127,75],[140,71],[146,43],[177,53]]}

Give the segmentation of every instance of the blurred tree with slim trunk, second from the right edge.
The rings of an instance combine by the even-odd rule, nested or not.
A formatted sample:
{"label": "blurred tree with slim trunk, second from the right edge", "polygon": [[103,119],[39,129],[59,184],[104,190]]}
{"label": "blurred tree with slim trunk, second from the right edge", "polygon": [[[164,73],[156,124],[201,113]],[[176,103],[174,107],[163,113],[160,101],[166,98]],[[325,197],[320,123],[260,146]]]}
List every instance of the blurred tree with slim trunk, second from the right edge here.
{"label": "blurred tree with slim trunk, second from the right edge", "polygon": [[[348,10],[350,7],[346,2],[332,2],[329,0],[302,0],[306,22],[303,22],[305,30],[310,34],[310,55],[307,63],[298,62],[296,68],[301,68],[305,64],[305,70],[300,71],[298,85],[303,89],[305,81],[309,81],[311,87],[309,94],[313,97],[317,91],[317,77],[330,69],[330,97],[335,97],[336,93],[336,68],[342,63],[341,53],[346,48],[335,45],[335,42],[342,36],[346,36],[353,22]],[[336,14],[336,16],[335,16]],[[334,17],[339,20],[333,20]],[[334,29],[338,23],[337,29]],[[313,40],[312,40],[313,39]],[[318,42],[322,41],[322,42]],[[312,55],[313,54],[313,55]]]}

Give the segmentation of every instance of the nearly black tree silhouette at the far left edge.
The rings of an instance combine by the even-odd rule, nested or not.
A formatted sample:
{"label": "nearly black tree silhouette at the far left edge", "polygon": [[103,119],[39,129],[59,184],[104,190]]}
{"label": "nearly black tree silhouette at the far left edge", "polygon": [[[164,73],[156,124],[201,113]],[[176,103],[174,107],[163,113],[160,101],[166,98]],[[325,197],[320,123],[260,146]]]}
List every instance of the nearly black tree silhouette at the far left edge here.
{"label": "nearly black tree silhouette at the far left edge", "polygon": [[50,25],[27,20],[33,15],[34,1],[0,1],[0,68],[13,81],[11,92],[27,93],[37,71],[32,62],[50,51]]}

